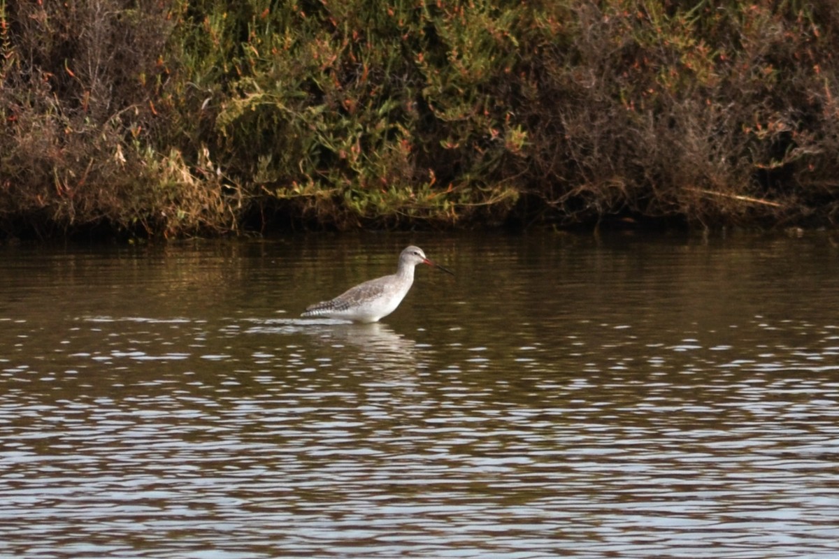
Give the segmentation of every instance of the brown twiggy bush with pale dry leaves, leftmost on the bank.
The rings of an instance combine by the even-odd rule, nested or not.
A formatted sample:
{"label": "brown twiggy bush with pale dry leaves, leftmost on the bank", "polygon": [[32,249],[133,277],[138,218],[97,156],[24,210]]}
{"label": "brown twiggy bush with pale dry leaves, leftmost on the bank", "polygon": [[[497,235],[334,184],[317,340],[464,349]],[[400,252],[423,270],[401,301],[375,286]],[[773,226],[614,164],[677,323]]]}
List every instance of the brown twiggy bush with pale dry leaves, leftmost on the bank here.
{"label": "brown twiggy bush with pale dry leaves, leftmost on the bank", "polygon": [[[166,146],[173,103],[157,0],[0,0],[0,226],[51,236],[106,225],[227,230],[234,199],[206,154]],[[188,160],[188,163],[187,163]]]}

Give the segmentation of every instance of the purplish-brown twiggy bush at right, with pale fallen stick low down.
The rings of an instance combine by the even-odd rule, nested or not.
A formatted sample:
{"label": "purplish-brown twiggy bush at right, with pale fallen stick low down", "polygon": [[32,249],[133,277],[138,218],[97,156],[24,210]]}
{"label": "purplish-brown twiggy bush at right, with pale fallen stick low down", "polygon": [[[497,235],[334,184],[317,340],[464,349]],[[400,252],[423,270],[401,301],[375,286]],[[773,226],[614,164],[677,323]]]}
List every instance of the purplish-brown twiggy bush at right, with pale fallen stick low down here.
{"label": "purplish-brown twiggy bush at right, with pale fallen stick low down", "polygon": [[570,40],[530,73],[534,196],[572,219],[834,220],[839,8],[680,5],[554,21]]}

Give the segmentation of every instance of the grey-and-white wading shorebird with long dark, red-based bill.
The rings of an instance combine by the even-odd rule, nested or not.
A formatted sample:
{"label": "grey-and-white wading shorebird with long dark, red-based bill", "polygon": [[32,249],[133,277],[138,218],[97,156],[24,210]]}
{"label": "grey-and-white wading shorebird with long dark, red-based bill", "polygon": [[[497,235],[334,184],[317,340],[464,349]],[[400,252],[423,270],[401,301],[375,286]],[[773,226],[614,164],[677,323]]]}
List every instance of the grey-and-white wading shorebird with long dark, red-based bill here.
{"label": "grey-and-white wading shorebird with long dark, red-based bill", "polygon": [[350,287],[346,292],[330,301],[315,303],[306,308],[304,317],[344,318],[353,322],[378,322],[380,318],[393,313],[414,283],[414,267],[426,264],[440,268],[443,272],[454,272],[425,257],[418,246],[409,246],[399,255],[399,267],[390,276],[377,277]]}

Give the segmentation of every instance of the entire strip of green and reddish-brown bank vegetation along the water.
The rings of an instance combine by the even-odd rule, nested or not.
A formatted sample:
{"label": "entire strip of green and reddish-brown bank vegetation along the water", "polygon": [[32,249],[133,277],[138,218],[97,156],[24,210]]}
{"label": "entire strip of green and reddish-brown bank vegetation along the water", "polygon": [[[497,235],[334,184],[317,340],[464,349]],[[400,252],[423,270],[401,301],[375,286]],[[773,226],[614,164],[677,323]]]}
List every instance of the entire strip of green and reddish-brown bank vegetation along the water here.
{"label": "entire strip of green and reddish-brown bank vegetation along the water", "polygon": [[0,230],[836,225],[839,7],[0,0]]}

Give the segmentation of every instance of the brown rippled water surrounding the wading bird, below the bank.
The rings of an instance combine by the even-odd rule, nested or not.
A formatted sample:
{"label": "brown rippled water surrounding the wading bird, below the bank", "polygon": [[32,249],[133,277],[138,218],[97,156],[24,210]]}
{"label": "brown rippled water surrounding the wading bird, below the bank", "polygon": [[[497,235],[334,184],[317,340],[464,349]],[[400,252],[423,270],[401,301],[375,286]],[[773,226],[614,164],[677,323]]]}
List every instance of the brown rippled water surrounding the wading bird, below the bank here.
{"label": "brown rippled water surrounding the wading bird, below the bank", "polygon": [[[456,277],[296,318],[409,242]],[[0,258],[0,555],[839,553],[829,235]]]}

